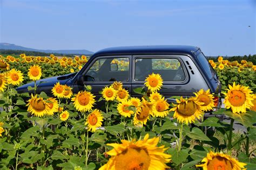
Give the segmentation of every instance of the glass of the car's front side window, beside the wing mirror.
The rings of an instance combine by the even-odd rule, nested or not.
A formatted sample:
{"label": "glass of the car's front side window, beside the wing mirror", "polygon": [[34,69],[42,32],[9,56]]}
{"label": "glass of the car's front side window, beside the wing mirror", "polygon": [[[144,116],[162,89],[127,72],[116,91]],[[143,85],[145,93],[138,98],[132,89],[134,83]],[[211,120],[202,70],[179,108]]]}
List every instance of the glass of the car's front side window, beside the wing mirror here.
{"label": "glass of the car's front side window, beside the wing mirror", "polygon": [[100,58],[92,64],[85,76],[92,77],[91,81],[128,81],[129,63],[128,57]]}

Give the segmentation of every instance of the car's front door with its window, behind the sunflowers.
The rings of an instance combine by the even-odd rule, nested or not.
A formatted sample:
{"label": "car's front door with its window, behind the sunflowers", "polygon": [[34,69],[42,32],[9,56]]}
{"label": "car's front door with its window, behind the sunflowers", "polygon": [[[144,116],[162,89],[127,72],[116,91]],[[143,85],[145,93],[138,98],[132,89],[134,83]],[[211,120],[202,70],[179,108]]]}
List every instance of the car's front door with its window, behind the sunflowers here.
{"label": "car's front door with its window, behind the sunflowers", "polygon": [[[123,83],[125,90],[131,93],[131,56],[100,56],[96,57],[82,73],[89,77],[84,85],[92,87],[96,99],[102,97],[100,91],[114,81]],[[85,89],[84,89],[85,90]]]}

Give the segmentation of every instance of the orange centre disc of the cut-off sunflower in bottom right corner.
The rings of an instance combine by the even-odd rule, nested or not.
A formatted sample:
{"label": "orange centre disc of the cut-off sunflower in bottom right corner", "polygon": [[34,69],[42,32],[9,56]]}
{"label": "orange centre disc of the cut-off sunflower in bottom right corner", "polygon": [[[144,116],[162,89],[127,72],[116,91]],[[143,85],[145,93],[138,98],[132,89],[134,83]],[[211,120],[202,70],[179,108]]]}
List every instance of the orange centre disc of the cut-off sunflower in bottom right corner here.
{"label": "orange centre disc of the cut-off sunflower in bottom right corner", "polygon": [[213,170],[232,170],[232,162],[223,157],[214,157],[207,164],[207,169]]}

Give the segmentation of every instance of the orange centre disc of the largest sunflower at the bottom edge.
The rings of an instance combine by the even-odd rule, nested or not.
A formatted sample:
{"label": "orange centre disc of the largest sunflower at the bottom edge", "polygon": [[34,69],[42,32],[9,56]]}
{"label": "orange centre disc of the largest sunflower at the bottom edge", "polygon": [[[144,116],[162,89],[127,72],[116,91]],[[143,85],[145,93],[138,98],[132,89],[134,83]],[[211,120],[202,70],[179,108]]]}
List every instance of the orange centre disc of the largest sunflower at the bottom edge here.
{"label": "orange centre disc of the largest sunflower at the bottom edge", "polygon": [[116,156],[115,163],[115,169],[144,170],[149,169],[150,156],[145,149],[127,148]]}

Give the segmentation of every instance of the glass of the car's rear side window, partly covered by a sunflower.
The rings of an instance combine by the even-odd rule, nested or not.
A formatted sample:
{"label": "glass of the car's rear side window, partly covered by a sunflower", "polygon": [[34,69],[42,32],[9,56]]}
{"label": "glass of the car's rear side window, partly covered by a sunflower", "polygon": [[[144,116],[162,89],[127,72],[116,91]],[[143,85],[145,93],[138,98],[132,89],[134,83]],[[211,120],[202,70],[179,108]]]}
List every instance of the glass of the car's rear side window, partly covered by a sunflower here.
{"label": "glass of the car's rear side window, partly covered by a sunflower", "polygon": [[145,81],[149,74],[160,74],[164,81],[184,81],[185,72],[176,58],[135,59],[135,81]]}

